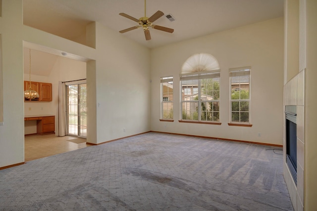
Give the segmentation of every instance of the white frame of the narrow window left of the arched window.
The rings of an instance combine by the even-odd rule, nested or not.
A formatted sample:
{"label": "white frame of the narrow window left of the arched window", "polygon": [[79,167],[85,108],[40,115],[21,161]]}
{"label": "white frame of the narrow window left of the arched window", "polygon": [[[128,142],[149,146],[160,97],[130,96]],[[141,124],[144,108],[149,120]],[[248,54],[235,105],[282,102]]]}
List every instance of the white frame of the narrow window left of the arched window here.
{"label": "white frame of the narrow window left of the arched window", "polygon": [[[173,100],[171,100],[171,97],[168,89],[167,89],[167,100],[166,97],[164,96],[163,93],[163,87],[164,84],[169,83],[168,89],[171,87],[173,87],[173,76],[165,76],[165,77],[160,77],[160,119],[161,120],[173,120],[174,119],[174,112],[172,112],[172,118],[164,118],[164,104],[172,104],[173,105]],[[174,89],[171,92],[171,95],[174,96]],[[173,99],[174,97],[172,97]],[[172,108],[174,107],[174,105],[172,106]],[[168,110],[169,111],[169,110]],[[169,111],[170,112],[170,111]]]}

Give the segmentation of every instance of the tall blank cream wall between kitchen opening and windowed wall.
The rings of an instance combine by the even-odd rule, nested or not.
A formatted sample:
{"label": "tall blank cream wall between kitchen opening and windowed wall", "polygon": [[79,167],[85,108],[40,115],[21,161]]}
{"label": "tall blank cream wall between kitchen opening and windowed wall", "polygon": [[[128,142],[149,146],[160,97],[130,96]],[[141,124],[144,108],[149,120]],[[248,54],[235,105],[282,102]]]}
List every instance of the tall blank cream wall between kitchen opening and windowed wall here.
{"label": "tall blank cream wall between kitchen opening and windowed wall", "polygon": [[150,50],[97,28],[97,143],[149,131]]}

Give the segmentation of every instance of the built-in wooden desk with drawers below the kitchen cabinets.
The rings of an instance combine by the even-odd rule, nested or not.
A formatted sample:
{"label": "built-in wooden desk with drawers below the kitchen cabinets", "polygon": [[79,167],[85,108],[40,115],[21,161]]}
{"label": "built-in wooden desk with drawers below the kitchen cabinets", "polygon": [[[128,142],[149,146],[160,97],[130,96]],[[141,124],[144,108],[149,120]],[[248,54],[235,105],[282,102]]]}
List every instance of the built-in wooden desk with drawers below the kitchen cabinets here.
{"label": "built-in wooden desk with drawers below the kitchen cabinets", "polygon": [[25,116],[24,121],[36,120],[37,134],[50,134],[55,132],[55,116],[54,115],[34,115]]}

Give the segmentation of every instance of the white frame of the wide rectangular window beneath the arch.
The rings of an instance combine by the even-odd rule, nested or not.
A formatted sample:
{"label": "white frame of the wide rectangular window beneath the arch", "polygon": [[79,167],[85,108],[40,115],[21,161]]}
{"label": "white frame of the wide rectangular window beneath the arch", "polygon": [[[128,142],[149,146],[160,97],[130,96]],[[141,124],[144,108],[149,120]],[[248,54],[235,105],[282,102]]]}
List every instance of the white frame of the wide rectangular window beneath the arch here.
{"label": "white frame of the wide rectangular window beneath the arch", "polygon": [[[202,100],[201,99],[201,80],[203,79],[218,79],[219,82],[219,99],[217,100]],[[182,81],[190,81],[190,80],[197,80],[198,81],[198,100],[183,100],[182,99],[182,92],[181,92],[181,102],[180,102],[180,120],[181,121],[190,121],[190,122],[213,122],[213,123],[220,123],[220,72],[201,72],[200,74],[181,74],[180,75],[180,90],[183,90],[182,86]],[[185,93],[184,93],[185,95]],[[188,96],[188,95],[185,95]],[[202,103],[212,103],[212,102],[218,102],[219,105],[219,111],[213,111],[211,110],[212,113],[218,112],[219,113],[219,119],[218,121],[213,121],[213,120],[202,120]],[[198,120],[188,120],[188,119],[183,119],[183,103],[198,103]],[[186,112],[187,113],[187,112]],[[191,114],[189,114],[191,115]]]}

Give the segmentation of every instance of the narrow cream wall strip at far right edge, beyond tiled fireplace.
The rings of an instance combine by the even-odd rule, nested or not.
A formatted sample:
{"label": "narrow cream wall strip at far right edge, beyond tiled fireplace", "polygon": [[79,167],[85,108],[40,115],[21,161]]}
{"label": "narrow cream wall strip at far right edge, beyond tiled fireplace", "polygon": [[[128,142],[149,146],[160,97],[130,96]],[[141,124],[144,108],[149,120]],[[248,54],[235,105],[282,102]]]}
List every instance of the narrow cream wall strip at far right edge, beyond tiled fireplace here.
{"label": "narrow cream wall strip at far right edge, beyond tiled fireplace", "polygon": [[305,200],[306,211],[317,208],[317,1],[305,0],[306,98],[305,98]]}

